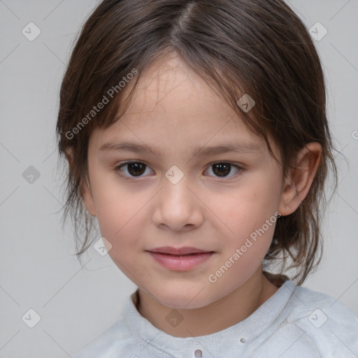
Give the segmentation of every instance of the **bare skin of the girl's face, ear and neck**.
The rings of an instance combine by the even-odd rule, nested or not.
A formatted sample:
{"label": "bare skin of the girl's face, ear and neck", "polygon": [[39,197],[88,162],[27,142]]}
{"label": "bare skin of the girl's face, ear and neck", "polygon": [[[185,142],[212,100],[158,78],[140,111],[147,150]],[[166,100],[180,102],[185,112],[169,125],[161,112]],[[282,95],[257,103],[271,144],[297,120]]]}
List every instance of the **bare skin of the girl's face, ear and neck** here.
{"label": "bare skin of the girl's face, ear and neck", "polygon": [[[105,143],[120,141],[144,143],[158,153],[100,150]],[[260,149],[192,155],[196,146],[229,141],[250,141]],[[83,198],[112,245],[108,253],[113,262],[139,288],[141,315],[172,336],[202,336],[244,320],[278,290],[262,273],[275,224],[216,282],[208,276],[275,212],[283,216],[296,210],[312,184],[320,154],[320,144],[309,143],[298,153],[296,169],[282,179],[282,168],[264,141],[171,55],[143,73],[120,120],[92,132],[90,181],[83,184]],[[119,168],[132,159],[146,164],[137,177],[129,166]],[[231,164],[227,176],[220,176],[213,165],[219,161]],[[184,174],[176,184],[165,176],[173,165]],[[145,251],[162,246],[215,253],[189,271],[171,271]],[[173,308],[183,317],[177,327],[166,320]]]}

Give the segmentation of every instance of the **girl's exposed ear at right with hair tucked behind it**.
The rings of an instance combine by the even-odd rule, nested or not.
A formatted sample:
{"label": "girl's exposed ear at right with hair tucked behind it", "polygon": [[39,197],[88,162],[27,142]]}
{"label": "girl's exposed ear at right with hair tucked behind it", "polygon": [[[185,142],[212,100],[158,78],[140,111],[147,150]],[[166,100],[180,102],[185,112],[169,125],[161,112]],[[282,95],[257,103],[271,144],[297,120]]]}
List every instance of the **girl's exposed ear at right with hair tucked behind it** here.
{"label": "girl's exposed ear at right with hair tucked behind it", "polygon": [[282,216],[294,213],[306,198],[317,173],[322,154],[320,143],[308,143],[299,151],[296,165],[289,169],[282,187],[278,211]]}

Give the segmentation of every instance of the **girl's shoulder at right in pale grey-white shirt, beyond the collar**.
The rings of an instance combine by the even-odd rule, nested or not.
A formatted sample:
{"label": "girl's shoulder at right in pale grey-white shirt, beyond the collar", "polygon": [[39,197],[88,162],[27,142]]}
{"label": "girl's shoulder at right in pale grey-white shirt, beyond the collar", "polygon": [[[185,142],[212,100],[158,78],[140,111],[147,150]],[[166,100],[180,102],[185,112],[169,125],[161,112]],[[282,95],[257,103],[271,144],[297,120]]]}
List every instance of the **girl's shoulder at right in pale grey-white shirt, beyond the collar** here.
{"label": "girl's shoulder at right in pale grey-white shirt, beyond the collar", "polygon": [[295,324],[322,352],[322,357],[358,357],[358,319],[333,297],[291,285],[287,324]]}

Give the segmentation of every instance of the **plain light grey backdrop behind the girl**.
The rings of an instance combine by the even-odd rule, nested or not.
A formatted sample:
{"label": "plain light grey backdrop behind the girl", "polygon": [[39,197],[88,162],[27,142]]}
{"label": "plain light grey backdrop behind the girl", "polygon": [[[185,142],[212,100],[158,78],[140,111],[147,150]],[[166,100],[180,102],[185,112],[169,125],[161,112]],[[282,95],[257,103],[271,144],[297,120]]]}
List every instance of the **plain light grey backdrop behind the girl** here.
{"label": "plain light grey backdrop behind the girl", "polygon": [[[55,148],[59,86],[76,33],[96,3],[0,0],[2,358],[71,357],[118,320],[136,289],[108,255],[91,249],[81,266],[72,229],[62,231],[57,213],[63,202]],[[340,185],[322,227],[324,259],[304,286],[358,314],[358,0],[289,4],[308,28],[321,22],[328,30],[315,43],[339,151]],[[22,34],[29,22],[41,29],[34,41]],[[32,183],[22,176],[29,166],[40,174]],[[32,329],[24,323],[34,320],[30,308],[41,316]]]}

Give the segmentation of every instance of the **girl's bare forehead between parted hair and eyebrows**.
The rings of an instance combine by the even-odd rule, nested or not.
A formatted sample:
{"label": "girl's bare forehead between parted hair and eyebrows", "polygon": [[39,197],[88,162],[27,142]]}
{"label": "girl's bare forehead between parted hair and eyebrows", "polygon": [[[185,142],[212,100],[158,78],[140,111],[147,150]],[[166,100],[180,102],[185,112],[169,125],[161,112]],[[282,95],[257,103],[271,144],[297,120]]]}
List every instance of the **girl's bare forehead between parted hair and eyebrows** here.
{"label": "girl's bare forehead between parted hair and eyebrows", "polygon": [[141,73],[124,115],[94,136],[99,147],[135,141],[160,151],[224,143],[264,147],[238,112],[177,55],[169,55]]}

